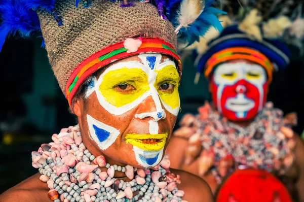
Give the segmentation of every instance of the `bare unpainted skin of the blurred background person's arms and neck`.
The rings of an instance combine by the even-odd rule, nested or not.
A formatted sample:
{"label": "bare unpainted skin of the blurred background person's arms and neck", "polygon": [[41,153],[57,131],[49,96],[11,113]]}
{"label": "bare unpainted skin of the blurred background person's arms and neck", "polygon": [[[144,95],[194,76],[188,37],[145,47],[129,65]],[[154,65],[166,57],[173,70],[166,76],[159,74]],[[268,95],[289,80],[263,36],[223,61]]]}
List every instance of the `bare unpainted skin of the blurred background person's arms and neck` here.
{"label": "bare unpainted skin of the blurred background person's arms and neck", "polygon": [[[240,60],[235,60],[233,62],[238,62]],[[244,61],[244,60],[242,60]],[[212,93],[213,88],[209,85],[209,90]],[[251,120],[244,120],[244,121],[233,121],[234,123],[246,127],[251,122]],[[293,165],[290,167],[290,170],[287,174],[287,181],[285,182],[285,186],[291,193],[297,194],[299,201],[304,201],[304,142],[300,139],[297,134],[294,134],[293,140],[295,141],[295,148],[293,150],[293,154],[295,157],[295,161]],[[178,145],[178,147],[176,147]],[[167,147],[167,153],[171,155],[171,167],[174,169],[181,169],[183,171],[187,171],[189,173],[199,175],[198,171],[198,160],[194,160],[191,164],[186,165],[184,164],[184,154],[186,152],[186,148],[188,147],[188,140],[183,138],[173,137],[170,140],[170,144]],[[174,154],[174,155],[173,155]],[[213,194],[216,193],[218,187],[220,186],[215,181],[215,178],[211,172],[207,172],[204,176],[201,176],[208,185],[210,186]]]}

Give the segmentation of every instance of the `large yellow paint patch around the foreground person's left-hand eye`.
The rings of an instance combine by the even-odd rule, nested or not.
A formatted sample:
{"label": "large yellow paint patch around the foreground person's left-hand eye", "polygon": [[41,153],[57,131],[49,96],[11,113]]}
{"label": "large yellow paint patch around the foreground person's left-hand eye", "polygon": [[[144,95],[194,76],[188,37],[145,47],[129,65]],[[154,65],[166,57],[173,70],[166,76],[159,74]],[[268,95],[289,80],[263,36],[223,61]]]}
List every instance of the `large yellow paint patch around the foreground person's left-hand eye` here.
{"label": "large yellow paint patch around the foreground person's left-hand eye", "polygon": [[[121,84],[129,84],[135,89],[129,93],[121,93],[114,89]],[[99,90],[109,104],[122,107],[134,102],[149,90],[148,76],[138,68],[112,70],[103,75]]]}

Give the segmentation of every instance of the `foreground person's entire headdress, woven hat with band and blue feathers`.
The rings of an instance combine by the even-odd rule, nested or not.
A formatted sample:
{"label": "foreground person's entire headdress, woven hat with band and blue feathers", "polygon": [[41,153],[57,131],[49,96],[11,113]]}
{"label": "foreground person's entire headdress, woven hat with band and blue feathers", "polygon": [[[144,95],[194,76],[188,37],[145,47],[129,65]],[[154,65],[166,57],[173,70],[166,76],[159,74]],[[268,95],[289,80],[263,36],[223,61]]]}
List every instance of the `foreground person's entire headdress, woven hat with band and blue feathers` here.
{"label": "foreground person's entire headdress, woven hat with band and blue feathers", "polygon": [[221,29],[214,16],[220,11],[210,7],[212,1],[82,3],[80,0],[0,2],[3,21],[0,28],[4,30],[0,33],[0,50],[10,33],[30,36],[41,31],[52,69],[69,104],[89,75],[132,55],[154,52],[172,56],[181,74],[176,33],[185,43],[198,40],[211,25]]}

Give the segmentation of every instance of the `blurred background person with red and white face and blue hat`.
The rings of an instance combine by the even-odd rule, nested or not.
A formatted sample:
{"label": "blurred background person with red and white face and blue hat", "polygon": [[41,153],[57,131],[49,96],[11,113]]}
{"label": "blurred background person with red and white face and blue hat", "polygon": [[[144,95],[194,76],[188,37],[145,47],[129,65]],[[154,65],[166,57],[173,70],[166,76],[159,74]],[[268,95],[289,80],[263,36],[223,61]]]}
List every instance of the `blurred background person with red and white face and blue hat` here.
{"label": "blurred background person with red and white face and blue hat", "polygon": [[[250,195],[256,195],[259,189],[265,188],[257,185],[278,183],[258,181],[257,176],[267,176],[264,171],[247,172],[247,169],[276,174],[294,198],[299,196],[300,201],[304,199],[301,193],[303,143],[288,127],[282,111],[267,103],[273,71],[285,68],[289,57],[289,50],[282,42],[267,39],[254,41],[237,25],[231,25],[210,42],[208,51],[197,60],[199,72],[204,71],[209,80],[213,103],[200,107],[197,116],[187,114],[182,118],[181,128],[175,131],[168,153],[172,154],[173,167],[201,176],[214,193],[221,193],[219,185],[237,171],[233,175],[235,181],[231,182],[228,178],[229,184],[221,186],[225,190],[217,198],[218,201],[249,201]],[[240,176],[247,176],[242,179],[257,186],[251,190],[252,193],[256,190],[256,194],[246,194],[250,191],[245,187],[249,188],[250,183],[243,183],[244,190],[237,186]],[[272,179],[269,176],[261,178]],[[280,186],[278,192],[284,195],[282,190]],[[269,194],[270,198],[274,193]],[[227,200],[230,195],[234,197]],[[259,196],[265,199],[256,195],[250,197],[250,201],[259,201]],[[277,199],[286,201],[282,198],[286,195]]]}

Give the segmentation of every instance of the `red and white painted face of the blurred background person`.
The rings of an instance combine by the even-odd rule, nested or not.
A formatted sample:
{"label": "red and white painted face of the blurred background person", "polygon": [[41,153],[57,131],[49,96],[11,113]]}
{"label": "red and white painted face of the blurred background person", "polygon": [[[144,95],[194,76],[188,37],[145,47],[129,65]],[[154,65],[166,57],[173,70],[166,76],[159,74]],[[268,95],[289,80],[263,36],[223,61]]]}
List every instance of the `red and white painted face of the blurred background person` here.
{"label": "red and white painted face of the blurred background person", "polygon": [[267,99],[267,75],[258,64],[246,61],[220,64],[211,85],[215,107],[229,120],[254,118]]}

